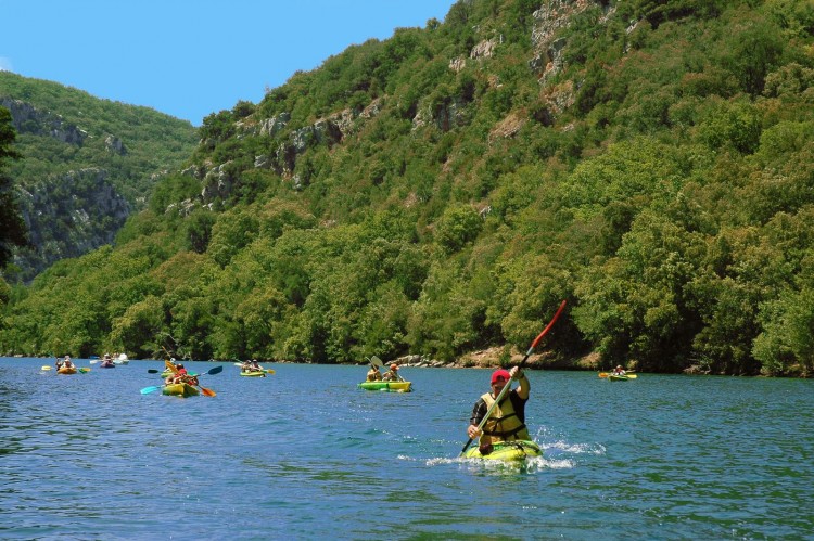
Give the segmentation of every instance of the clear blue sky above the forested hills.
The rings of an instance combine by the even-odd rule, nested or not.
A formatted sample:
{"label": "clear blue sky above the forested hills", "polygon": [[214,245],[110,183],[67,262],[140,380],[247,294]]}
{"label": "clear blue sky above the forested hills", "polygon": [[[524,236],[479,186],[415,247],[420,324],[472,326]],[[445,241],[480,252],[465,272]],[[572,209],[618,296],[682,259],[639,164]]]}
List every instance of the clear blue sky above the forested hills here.
{"label": "clear blue sky above the forested hills", "polygon": [[454,0],[0,0],[0,69],[190,120]]}

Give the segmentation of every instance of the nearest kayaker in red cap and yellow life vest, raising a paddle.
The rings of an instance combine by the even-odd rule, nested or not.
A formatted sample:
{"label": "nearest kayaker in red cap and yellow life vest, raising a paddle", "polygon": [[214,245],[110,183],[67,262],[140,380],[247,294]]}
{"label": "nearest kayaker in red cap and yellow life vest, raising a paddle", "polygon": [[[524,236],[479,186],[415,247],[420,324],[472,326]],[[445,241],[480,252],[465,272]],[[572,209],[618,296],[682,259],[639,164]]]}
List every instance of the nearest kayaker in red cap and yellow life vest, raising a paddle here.
{"label": "nearest kayaker in red cap and yellow life vest, raising a paddle", "polygon": [[[504,387],[511,385],[512,379],[517,379],[520,385],[514,389],[509,388],[500,403],[492,410],[483,429],[479,429],[478,426],[486,416],[486,412],[495,403]],[[498,441],[530,439],[529,429],[525,426],[525,402],[529,400],[531,387],[523,371],[519,366],[512,368],[511,371],[496,370],[492,373],[491,386],[492,391],[482,395],[472,408],[472,417],[467,427],[470,438],[481,438],[480,447],[483,454],[488,454],[492,443]]]}

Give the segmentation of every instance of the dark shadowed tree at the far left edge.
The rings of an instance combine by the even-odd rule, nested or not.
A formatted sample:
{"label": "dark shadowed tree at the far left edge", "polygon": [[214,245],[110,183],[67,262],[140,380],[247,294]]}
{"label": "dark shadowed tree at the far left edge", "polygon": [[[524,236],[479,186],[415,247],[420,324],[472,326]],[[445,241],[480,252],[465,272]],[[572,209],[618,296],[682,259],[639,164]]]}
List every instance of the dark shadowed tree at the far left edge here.
{"label": "dark shadowed tree at the far left edge", "polygon": [[0,107],[0,269],[11,260],[14,246],[25,246],[27,234],[25,222],[14,197],[12,179],[5,168],[21,155],[13,149],[16,132],[11,124],[11,113]]}

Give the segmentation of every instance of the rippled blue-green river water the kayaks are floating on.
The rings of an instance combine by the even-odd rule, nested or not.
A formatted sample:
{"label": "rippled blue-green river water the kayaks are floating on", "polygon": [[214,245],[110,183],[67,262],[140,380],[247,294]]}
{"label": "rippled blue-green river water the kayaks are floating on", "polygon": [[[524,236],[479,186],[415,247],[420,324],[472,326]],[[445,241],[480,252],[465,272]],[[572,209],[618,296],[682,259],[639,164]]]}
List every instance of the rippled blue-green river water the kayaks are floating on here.
{"label": "rippled blue-green river water the kayaks are floating on", "polygon": [[[807,381],[531,372],[544,456],[458,458],[488,371],[365,366],[202,376],[217,397],[141,395],[133,361],[56,376],[0,359],[0,538],[804,538]],[[211,364],[190,363],[199,373]],[[205,379],[204,379],[205,378]],[[178,518],[182,517],[182,528]]]}

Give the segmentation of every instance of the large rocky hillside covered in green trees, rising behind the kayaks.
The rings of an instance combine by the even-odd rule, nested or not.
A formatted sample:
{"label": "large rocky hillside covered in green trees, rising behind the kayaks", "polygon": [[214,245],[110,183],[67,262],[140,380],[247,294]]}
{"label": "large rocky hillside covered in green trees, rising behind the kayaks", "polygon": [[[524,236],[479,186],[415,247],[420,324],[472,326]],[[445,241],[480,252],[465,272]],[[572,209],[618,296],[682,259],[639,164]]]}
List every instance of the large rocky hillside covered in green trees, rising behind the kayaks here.
{"label": "large rocky hillside covered in green trees, rising behind the kayaks", "polygon": [[0,350],[508,362],[568,299],[560,363],[810,375],[812,104],[811,2],[461,0],[205,118]]}

